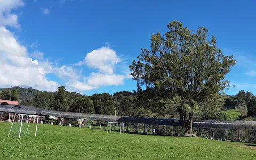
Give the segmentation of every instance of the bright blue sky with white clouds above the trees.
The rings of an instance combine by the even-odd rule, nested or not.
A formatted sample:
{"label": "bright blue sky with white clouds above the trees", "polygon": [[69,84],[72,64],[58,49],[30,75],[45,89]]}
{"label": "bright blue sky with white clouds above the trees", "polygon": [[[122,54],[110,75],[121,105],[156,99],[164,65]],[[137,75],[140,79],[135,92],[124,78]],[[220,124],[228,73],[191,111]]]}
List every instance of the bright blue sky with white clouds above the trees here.
{"label": "bright blue sky with white clouds above the trees", "polygon": [[[127,76],[128,66],[142,47],[150,47],[152,34],[157,30],[164,34],[167,23],[178,20],[189,29],[206,27],[210,35],[217,37],[224,54],[234,54],[237,64],[227,78],[236,87],[226,93],[246,90],[256,94],[254,1],[15,0],[9,4],[0,2],[0,6],[1,3],[4,7],[0,7],[0,26],[4,29],[0,37],[9,37],[15,45],[0,45],[0,54],[9,60],[5,69],[14,66],[16,71],[15,75],[6,75],[15,81],[0,78],[0,87],[19,85],[52,91],[65,85],[69,91],[86,95],[135,90],[136,82]],[[14,47],[18,47],[15,52]],[[20,64],[23,58],[31,61]],[[0,74],[6,72],[2,70]]]}

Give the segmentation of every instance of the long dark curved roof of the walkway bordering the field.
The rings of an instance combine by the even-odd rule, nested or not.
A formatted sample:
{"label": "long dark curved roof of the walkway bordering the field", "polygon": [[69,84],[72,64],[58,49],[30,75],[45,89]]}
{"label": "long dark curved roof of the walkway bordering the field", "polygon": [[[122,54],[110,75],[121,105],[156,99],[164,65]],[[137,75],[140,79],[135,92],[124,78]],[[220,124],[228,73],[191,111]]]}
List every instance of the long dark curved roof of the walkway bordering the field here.
{"label": "long dark curved roof of the walkway bordering the field", "polygon": [[[117,122],[123,122],[123,123],[181,126],[180,119],[71,113],[71,112],[65,112],[65,111],[48,110],[43,108],[31,107],[31,106],[14,107],[13,105],[6,105],[6,106],[3,105],[3,106],[0,106],[0,111],[7,112],[7,113],[56,116],[56,117],[65,117],[65,118],[95,119],[95,120],[110,121],[110,122],[114,122],[116,119]],[[255,121],[212,121],[212,120],[196,121],[195,120],[193,122],[193,127],[209,128],[209,129],[256,130],[256,122]]]}

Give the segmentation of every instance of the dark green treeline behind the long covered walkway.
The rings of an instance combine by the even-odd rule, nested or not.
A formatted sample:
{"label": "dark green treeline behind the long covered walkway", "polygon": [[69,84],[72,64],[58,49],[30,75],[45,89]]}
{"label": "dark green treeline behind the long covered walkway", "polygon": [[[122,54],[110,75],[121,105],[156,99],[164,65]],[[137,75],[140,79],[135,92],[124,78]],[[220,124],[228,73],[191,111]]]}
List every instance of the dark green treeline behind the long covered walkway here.
{"label": "dark green treeline behind the long covered walkway", "polygon": [[[20,101],[20,105],[76,113],[114,115],[116,110],[117,115],[179,118],[174,110],[168,109],[163,104],[164,101],[161,98],[156,97],[154,89],[149,87],[143,91],[120,91],[113,95],[102,93],[86,96],[68,92],[65,86],[60,86],[57,92],[44,92],[31,87],[15,86],[9,89],[0,89],[0,98]],[[175,105],[174,101],[169,101],[169,103]],[[221,111],[236,108],[241,113],[239,119],[256,117],[255,96],[247,91],[239,91],[237,95],[218,94],[211,101],[199,104],[195,118],[230,120]]]}

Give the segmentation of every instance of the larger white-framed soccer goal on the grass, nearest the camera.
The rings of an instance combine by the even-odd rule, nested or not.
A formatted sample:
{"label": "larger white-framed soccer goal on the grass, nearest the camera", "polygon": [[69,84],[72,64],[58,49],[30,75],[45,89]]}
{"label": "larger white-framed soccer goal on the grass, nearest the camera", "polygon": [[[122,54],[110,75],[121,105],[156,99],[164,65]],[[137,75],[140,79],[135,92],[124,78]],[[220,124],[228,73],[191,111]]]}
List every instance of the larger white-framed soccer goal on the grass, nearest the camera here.
{"label": "larger white-framed soccer goal on the grass, nearest the camera", "polygon": [[36,137],[38,115],[15,114],[8,137],[34,136]]}

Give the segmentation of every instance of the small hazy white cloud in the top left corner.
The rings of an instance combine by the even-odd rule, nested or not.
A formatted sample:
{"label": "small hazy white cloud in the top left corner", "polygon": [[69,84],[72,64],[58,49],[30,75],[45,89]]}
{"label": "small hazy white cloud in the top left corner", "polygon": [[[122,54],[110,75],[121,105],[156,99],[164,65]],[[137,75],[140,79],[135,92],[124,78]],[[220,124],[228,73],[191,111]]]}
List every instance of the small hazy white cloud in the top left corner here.
{"label": "small hazy white cloud in the top left corner", "polygon": [[24,3],[21,0],[0,0],[0,26],[19,28],[18,15],[11,13],[11,11],[23,5]]}

